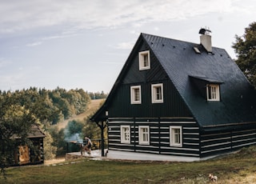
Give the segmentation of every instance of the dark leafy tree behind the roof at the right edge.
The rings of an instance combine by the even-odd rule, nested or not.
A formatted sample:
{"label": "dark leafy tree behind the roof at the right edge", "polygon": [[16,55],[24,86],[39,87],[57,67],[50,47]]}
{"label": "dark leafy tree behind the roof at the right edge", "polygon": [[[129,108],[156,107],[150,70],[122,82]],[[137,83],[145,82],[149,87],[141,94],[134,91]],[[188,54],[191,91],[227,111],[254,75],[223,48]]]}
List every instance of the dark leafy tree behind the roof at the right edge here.
{"label": "dark leafy tree behind the roof at the right edge", "polygon": [[232,46],[238,57],[235,62],[256,87],[256,22],[250,23],[242,36],[235,35],[235,39]]}

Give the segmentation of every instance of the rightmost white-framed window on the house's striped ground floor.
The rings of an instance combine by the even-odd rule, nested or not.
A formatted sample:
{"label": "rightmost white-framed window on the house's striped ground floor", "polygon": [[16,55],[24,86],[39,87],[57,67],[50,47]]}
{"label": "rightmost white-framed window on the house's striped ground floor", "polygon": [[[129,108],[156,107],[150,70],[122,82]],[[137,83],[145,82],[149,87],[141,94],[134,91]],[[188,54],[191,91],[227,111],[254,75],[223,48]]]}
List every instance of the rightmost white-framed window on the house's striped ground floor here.
{"label": "rightmost white-framed window on the house's striped ground floor", "polygon": [[[179,134],[175,130],[179,130]],[[170,146],[182,147],[182,126],[170,126]]]}

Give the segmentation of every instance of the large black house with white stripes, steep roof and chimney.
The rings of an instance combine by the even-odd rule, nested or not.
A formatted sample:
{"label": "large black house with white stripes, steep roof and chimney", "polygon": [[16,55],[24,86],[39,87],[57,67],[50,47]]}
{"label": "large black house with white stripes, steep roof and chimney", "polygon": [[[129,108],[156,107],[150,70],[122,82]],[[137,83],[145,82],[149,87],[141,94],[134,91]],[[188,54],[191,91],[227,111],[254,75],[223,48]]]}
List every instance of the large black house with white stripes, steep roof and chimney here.
{"label": "large black house with white stripes, steep roof and chimney", "polygon": [[194,161],[256,144],[256,95],[226,50],[140,34],[106,102],[108,157]]}

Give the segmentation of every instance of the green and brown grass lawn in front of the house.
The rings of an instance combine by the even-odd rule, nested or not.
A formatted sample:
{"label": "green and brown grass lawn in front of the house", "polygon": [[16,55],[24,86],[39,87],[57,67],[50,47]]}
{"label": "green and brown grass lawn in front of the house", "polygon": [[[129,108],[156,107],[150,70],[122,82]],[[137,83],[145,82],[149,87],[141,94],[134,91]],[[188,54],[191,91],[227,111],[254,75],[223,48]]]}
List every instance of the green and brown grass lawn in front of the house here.
{"label": "green and brown grass lawn in front of the house", "polygon": [[203,162],[139,162],[83,158],[7,170],[0,183],[256,183],[256,146]]}

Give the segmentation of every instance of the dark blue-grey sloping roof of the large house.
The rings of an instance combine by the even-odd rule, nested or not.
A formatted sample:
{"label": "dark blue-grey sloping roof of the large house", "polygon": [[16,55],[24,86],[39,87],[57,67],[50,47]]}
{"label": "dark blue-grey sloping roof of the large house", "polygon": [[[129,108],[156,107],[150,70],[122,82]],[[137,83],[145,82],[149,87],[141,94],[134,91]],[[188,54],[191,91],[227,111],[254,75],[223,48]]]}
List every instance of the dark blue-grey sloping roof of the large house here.
{"label": "dark blue-grey sloping roof of the large house", "polygon": [[[255,122],[254,89],[226,50],[142,34],[200,126]],[[194,50],[196,46],[201,54]],[[207,102],[190,78],[221,84],[221,102]]]}

